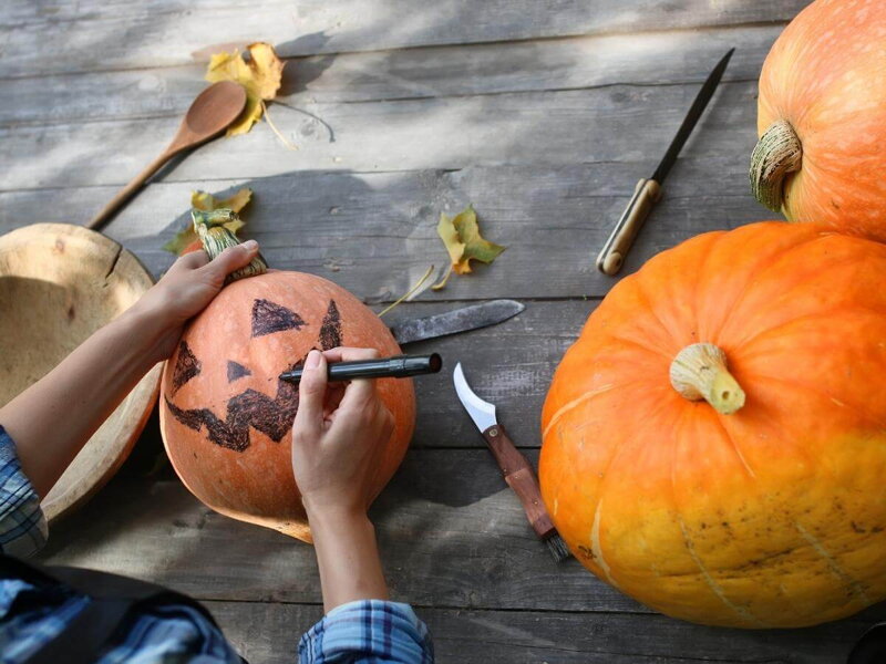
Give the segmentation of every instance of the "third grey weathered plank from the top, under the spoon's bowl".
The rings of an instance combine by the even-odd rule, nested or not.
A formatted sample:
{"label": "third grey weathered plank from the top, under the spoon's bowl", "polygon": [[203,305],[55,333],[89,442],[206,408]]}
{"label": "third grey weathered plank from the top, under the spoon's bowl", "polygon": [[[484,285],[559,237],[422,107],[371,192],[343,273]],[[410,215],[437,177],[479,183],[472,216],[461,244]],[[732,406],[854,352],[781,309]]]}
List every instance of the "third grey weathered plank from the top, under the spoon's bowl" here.
{"label": "third grey weathered plank from the top, under the spoon's bowl", "polygon": [[[319,120],[296,111],[276,117],[301,149],[287,151],[260,125],[198,148],[167,172],[165,180],[256,178],[308,169],[402,172],[621,160],[647,160],[651,170],[697,92],[697,84],[615,85],[316,104],[305,110]],[[745,163],[755,143],[755,82],[721,85],[683,155],[731,156]],[[0,159],[14,165],[6,173],[3,189],[124,184],[165,146],[177,123],[152,118],[0,129]]]}

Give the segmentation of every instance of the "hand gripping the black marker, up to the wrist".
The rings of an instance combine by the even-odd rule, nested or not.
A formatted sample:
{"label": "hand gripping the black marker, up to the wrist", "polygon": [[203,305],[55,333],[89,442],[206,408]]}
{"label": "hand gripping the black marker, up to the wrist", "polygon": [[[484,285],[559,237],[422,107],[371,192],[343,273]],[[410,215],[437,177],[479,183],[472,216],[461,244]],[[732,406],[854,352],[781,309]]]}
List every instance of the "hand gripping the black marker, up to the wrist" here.
{"label": "hand gripping the black marker, up to the wrist", "polygon": [[365,517],[372,476],[394,418],[374,381],[328,384],[327,363],[378,357],[373,349],[311,351],[299,384],[292,425],[292,471],[308,519],[329,513]]}

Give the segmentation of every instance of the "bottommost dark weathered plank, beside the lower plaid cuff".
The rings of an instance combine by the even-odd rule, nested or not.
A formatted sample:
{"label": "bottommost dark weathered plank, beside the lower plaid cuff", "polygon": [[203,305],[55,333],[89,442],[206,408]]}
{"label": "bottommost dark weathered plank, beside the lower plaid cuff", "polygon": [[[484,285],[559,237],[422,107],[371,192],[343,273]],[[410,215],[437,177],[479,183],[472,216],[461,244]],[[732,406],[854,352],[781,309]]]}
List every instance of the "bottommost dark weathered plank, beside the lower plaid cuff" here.
{"label": "bottommost dark weathered plank, beside the lower plaid cuff", "polygon": [[[320,606],[208,602],[240,654],[290,664]],[[463,611],[418,608],[436,658],[463,664],[834,664],[844,662],[873,619],[807,630],[746,631],[693,625],[661,615]]]}

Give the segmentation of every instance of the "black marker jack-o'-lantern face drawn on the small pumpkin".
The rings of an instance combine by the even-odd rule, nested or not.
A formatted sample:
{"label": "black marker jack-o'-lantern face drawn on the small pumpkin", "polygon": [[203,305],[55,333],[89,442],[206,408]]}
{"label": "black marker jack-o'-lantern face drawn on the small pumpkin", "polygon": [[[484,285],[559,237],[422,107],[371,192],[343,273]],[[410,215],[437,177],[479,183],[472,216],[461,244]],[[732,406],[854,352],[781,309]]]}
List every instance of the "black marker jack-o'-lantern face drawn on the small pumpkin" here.
{"label": "black marker jack-o'-lantern face drawn on the small pumpkin", "polygon": [[[265,302],[260,310],[278,311],[285,310],[291,313],[299,321],[301,318],[293,311],[269,302],[268,300],[256,300],[257,302]],[[253,336],[255,336],[256,307],[253,307]],[[301,323],[299,326],[305,325]],[[292,329],[295,325],[286,328]],[[295,326],[296,330],[299,326]],[[270,332],[266,332],[269,334]],[[262,333],[265,334],[265,333]],[[320,324],[320,333],[318,335],[318,343],[321,350],[328,351],[336,346],[342,345],[342,331],[341,319],[339,315],[338,307],[334,300],[329,301],[326,317]],[[196,360],[187,344],[182,342],[178,351],[182,355],[183,350],[187,353],[199,367],[199,362]],[[307,353],[306,353],[307,356]],[[181,357],[179,357],[181,360]],[[305,362],[305,357],[288,367],[281,367],[280,373],[289,369],[295,369]],[[236,362],[228,361],[228,381],[230,382],[231,365],[236,364],[240,369],[249,372],[249,370]],[[176,361],[176,367],[178,361]],[[197,370],[199,372],[199,369]],[[175,375],[175,373],[173,374]],[[196,374],[195,374],[196,375]],[[244,374],[245,375],[245,374]],[[193,377],[193,376],[192,376]],[[241,377],[237,376],[237,377]],[[236,378],[235,378],[236,380]],[[173,390],[175,394],[175,390]],[[249,447],[249,427],[253,427],[275,443],[282,440],[284,436],[292,427],[292,422],[296,418],[296,411],[298,409],[298,386],[287,383],[286,381],[277,381],[277,394],[274,398],[267,394],[257,392],[255,390],[246,390],[228,400],[225,419],[220,419],[209,408],[179,408],[169,397],[164,395],[166,406],[173,416],[184,424],[186,427],[199,432],[204,426],[209,442],[220,447],[233,449],[234,452],[245,452]]]}

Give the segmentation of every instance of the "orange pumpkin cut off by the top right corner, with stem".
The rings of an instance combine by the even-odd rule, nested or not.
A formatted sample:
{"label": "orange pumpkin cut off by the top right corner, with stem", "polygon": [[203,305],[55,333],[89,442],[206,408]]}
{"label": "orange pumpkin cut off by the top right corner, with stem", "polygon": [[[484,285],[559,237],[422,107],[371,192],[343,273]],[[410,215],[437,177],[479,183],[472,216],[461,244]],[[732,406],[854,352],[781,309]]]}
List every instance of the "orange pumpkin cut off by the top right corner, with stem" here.
{"label": "orange pumpkin cut off by the top right corner, with stem", "polygon": [[816,0],[760,76],[758,199],[792,221],[886,240],[886,2]]}

